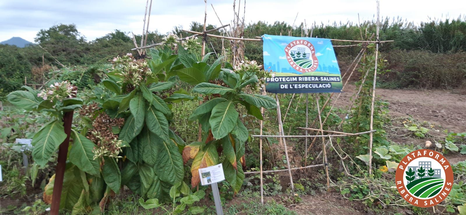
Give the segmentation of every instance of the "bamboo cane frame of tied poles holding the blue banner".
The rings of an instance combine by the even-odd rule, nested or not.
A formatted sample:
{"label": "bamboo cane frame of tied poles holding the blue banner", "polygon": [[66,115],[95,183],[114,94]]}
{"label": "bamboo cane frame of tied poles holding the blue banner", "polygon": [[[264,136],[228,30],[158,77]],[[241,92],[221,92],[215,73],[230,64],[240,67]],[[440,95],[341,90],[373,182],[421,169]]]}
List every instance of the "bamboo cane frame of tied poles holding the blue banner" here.
{"label": "bamboo cane frame of tied poles holding the blue banner", "polygon": [[[220,27],[217,27],[217,28],[214,28],[212,30],[208,30],[206,31],[206,20],[207,20],[207,0],[204,0],[205,1],[205,4],[206,4],[206,7],[205,7],[205,18],[204,18],[204,27],[203,27],[203,32],[196,32],[196,31],[191,31],[191,30],[182,30],[184,32],[187,32],[187,33],[191,33],[193,34],[192,36],[188,37],[188,38],[193,38],[193,37],[198,37],[198,36],[202,36],[202,57],[205,55],[205,48],[206,48],[206,40],[207,40],[207,37],[214,37],[214,38],[220,38],[222,39],[222,44],[223,44],[223,40],[230,40],[230,44],[232,46],[232,50],[233,50],[233,65],[236,65],[237,63],[239,63],[240,60],[242,60],[244,58],[244,44],[243,42],[244,41],[262,41],[262,38],[243,38],[242,37],[242,32],[244,31],[244,13],[246,11],[246,4],[244,2],[244,13],[243,13],[243,17],[242,17],[242,20],[240,20],[240,16],[239,16],[239,13],[240,13],[240,4],[241,4],[241,0],[239,1],[239,8],[238,8],[238,12],[236,12],[236,9],[235,9],[235,5],[236,5],[236,0],[234,0],[233,2],[233,11],[234,11],[234,19],[233,19],[233,28],[230,29],[230,31],[226,31],[225,34],[227,36],[224,36],[224,35],[214,35],[214,34],[208,34],[212,31],[216,31],[216,30],[219,30],[219,29],[222,29],[222,28],[225,28],[225,27],[228,27],[230,25],[223,25],[220,21],[220,24],[222,26]],[[147,0],[147,2],[149,2],[149,0]],[[147,3],[148,4],[148,3]],[[146,4],[146,14],[147,14],[147,4]],[[151,0],[151,4],[152,4],[152,0]],[[150,11],[151,11],[151,4],[150,4],[150,7],[149,7],[149,17],[147,19],[147,28],[149,27],[149,18],[150,18]],[[215,9],[213,8],[213,5],[212,5],[212,9],[214,10],[215,12]],[[217,15],[217,13],[215,12],[215,14]],[[297,15],[296,15],[297,16]],[[145,17],[146,15],[144,15],[144,27],[146,26],[145,24]],[[218,16],[217,16],[218,17]],[[219,19],[220,20],[220,19]],[[298,127],[299,129],[304,129],[305,130],[305,134],[306,135],[285,135],[284,132],[283,132],[283,123],[282,123],[282,119],[281,119],[281,111],[280,111],[280,101],[278,99],[278,95],[275,94],[275,99],[276,99],[276,102],[277,102],[277,115],[278,115],[278,123],[279,123],[279,131],[280,131],[280,135],[263,135],[263,121],[260,120],[260,134],[259,135],[252,135],[253,137],[259,137],[260,140],[259,140],[259,144],[260,144],[260,171],[258,172],[245,172],[245,174],[257,174],[257,173],[260,173],[260,201],[262,203],[264,203],[264,198],[263,198],[263,174],[264,173],[273,173],[273,172],[281,172],[281,171],[288,171],[288,175],[289,175],[289,179],[290,179],[290,186],[291,186],[291,190],[292,190],[292,193],[294,194],[294,184],[293,184],[293,176],[291,174],[291,170],[296,170],[296,169],[304,169],[304,168],[313,168],[313,167],[325,167],[325,172],[326,172],[326,176],[327,176],[327,186],[329,187],[329,183],[330,183],[330,179],[329,179],[329,173],[328,173],[328,160],[327,160],[327,152],[326,152],[326,147],[328,145],[328,143],[326,144],[325,143],[325,138],[329,138],[329,141],[331,140],[330,138],[331,137],[336,137],[336,136],[353,136],[353,135],[360,135],[360,134],[370,134],[370,141],[369,141],[369,155],[370,155],[370,160],[369,160],[369,174],[371,174],[371,162],[372,162],[372,142],[373,142],[373,135],[372,133],[375,132],[376,130],[373,129],[373,114],[374,114],[374,102],[375,102],[375,86],[376,86],[376,81],[377,81],[377,61],[378,61],[378,47],[379,47],[379,44],[381,43],[385,43],[385,42],[392,42],[394,40],[383,40],[383,41],[380,41],[379,40],[379,26],[380,26],[380,20],[379,20],[379,2],[377,0],[377,33],[376,33],[376,41],[373,41],[371,40],[373,37],[374,37],[374,34],[372,34],[372,36],[370,37],[369,40],[338,40],[338,39],[330,39],[332,41],[344,41],[344,42],[356,42],[358,44],[352,44],[352,45],[336,45],[336,46],[333,46],[333,47],[353,47],[353,46],[359,46],[359,45],[362,45],[362,48],[361,48],[361,51],[359,52],[359,54],[356,56],[356,58],[352,61],[352,63],[350,64],[349,68],[346,70],[346,72],[343,74],[342,76],[342,81],[343,79],[346,77],[346,75],[348,74],[349,70],[352,68],[351,72],[349,73],[348,75],[348,78],[346,79],[346,82],[345,84],[343,85],[342,87],[342,91],[343,91],[343,88],[346,86],[346,84],[348,83],[349,79],[351,78],[352,74],[354,73],[354,71],[356,70],[356,67],[358,66],[358,61],[361,60],[361,58],[363,57],[364,53],[366,52],[367,50],[367,46],[370,44],[370,43],[375,43],[376,44],[376,64],[375,64],[375,69],[374,69],[374,79],[373,79],[373,87],[372,87],[372,101],[371,101],[371,113],[370,113],[370,130],[369,131],[365,131],[365,132],[359,132],[359,133],[345,133],[345,132],[338,132],[338,131],[330,131],[330,130],[323,130],[323,124],[327,121],[328,117],[329,117],[329,114],[331,113],[333,107],[335,106],[336,104],[336,101],[338,101],[339,97],[340,97],[340,94],[336,97],[336,100],[334,101],[333,105],[331,106],[330,110],[329,110],[329,113],[327,114],[327,116],[325,117],[325,119],[322,121],[322,117],[321,117],[321,113],[322,111],[324,110],[324,108],[327,106],[327,104],[329,103],[330,99],[332,98],[332,96],[334,95],[334,93],[330,94],[329,98],[327,99],[327,101],[325,101],[325,103],[322,105],[322,108],[320,108],[320,104],[319,104],[319,99],[318,99],[318,96],[316,96],[315,98],[315,101],[316,101],[316,108],[317,108],[317,113],[318,113],[318,116],[317,116],[317,119],[318,119],[318,122],[319,122],[319,128],[307,128],[308,127],[308,94],[306,94],[306,128],[302,128],[302,127]],[[313,28],[311,28],[311,31],[310,31],[310,37],[312,37],[312,30]],[[144,28],[143,28],[143,33],[144,33]],[[306,29],[306,31],[304,32],[305,35],[307,36],[308,35],[308,31]],[[153,45],[150,45],[150,46],[147,46],[146,42],[147,42],[147,34],[148,34],[148,30],[145,31],[145,34],[143,34],[143,37],[141,39],[141,46],[140,47],[137,47],[137,42],[135,40],[135,37],[134,37],[134,34],[133,34],[133,42],[134,42],[134,45],[135,45],[135,48],[131,49],[131,50],[137,50],[138,54],[144,54],[145,53],[145,49],[146,48],[149,48],[149,47],[156,47],[156,46],[159,46],[159,45],[163,45],[164,43],[158,43],[158,44],[153,44]],[[145,38],[145,39],[144,39]],[[181,38],[181,39],[178,39],[178,40],[186,40],[187,38]],[[144,40],[144,42],[143,42]],[[222,48],[224,49],[224,48]],[[242,53],[242,54],[241,54]],[[366,79],[366,77],[368,76],[368,73],[369,73],[369,70],[367,70],[367,72],[365,73],[364,75],[364,78],[363,80]],[[262,86],[262,94],[265,94],[265,86]],[[356,96],[359,95],[359,93],[361,92],[361,88],[358,90],[358,92],[356,93]],[[300,96],[301,98],[301,96]],[[290,101],[291,103],[291,101]],[[351,107],[353,106],[354,102],[351,104]],[[351,108],[350,107],[350,108]],[[289,109],[289,105],[288,105],[288,108],[287,108],[287,112],[288,112],[288,109]],[[264,108],[261,108],[261,114],[264,115]],[[286,116],[286,114],[285,114]],[[316,119],[316,120],[317,120]],[[284,121],[285,119],[283,119]],[[311,127],[314,126],[315,122],[317,121],[314,121],[312,124],[311,124]],[[343,117],[343,121],[344,121],[344,117]],[[342,121],[342,123],[343,123]],[[338,125],[337,128],[339,128],[342,123],[340,123],[340,125]],[[308,135],[308,131],[317,131],[318,135]],[[332,133],[332,134],[324,134],[325,133]],[[200,136],[200,133],[199,133],[199,136]],[[286,161],[287,161],[287,169],[280,169],[280,170],[267,170],[267,171],[264,171],[263,170],[263,165],[262,165],[262,138],[263,137],[275,137],[275,138],[279,138],[281,142],[283,142],[283,145],[284,145],[284,150],[285,150],[285,155],[286,155]],[[286,146],[286,141],[285,141],[285,138],[289,138],[289,137],[304,137],[305,138],[305,144],[306,144],[306,148],[305,148],[305,155],[306,155],[306,160],[305,160],[305,165],[307,165],[307,153],[308,153],[308,150],[312,147],[313,143],[315,142],[316,138],[318,137],[321,137],[322,138],[322,151],[321,151],[321,154],[323,152],[323,157],[322,157],[322,164],[317,164],[317,165],[309,165],[309,166],[304,166],[304,167],[297,167],[297,168],[291,168],[290,167],[290,162],[289,162],[289,158],[288,158],[288,150],[287,150],[287,146]],[[310,146],[308,146],[308,138],[309,137],[314,137],[313,141],[311,142]],[[319,154],[318,157],[321,155]]]}

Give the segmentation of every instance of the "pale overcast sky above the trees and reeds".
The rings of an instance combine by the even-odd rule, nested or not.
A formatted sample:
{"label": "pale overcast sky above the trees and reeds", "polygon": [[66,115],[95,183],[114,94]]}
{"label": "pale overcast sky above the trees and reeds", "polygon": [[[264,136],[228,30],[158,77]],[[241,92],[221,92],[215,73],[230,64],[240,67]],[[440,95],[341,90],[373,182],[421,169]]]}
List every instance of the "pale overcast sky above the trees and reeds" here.
{"label": "pale overcast sky above the trees and reeds", "polygon": [[[237,4],[238,4],[237,0]],[[37,32],[53,25],[76,24],[87,40],[94,40],[114,29],[142,33],[145,0],[0,0],[0,41],[18,36],[33,42]],[[207,22],[220,26],[233,18],[233,0],[208,0]],[[244,1],[241,1],[241,11]],[[189,27],[192,21],[204,22],[204,0],[153,0],[150,30],[167,33],[174,26]],[[414,21],[430,18],[456,19],[464,13],[464,0],[382,0],[380,15]],[[275,20],[290,24],[333,21],[357,22],[375,18],[375,0],[248,0],[246,21]],[[259,36],[259,35],[258,35]]]}

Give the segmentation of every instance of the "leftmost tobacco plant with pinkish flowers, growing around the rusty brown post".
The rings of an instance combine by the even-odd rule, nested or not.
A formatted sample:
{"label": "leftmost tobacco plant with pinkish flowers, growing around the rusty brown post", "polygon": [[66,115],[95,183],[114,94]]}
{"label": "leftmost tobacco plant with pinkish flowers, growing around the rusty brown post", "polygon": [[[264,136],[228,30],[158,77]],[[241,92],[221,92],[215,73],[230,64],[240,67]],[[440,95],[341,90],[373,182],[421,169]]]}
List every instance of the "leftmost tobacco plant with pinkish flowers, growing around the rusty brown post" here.
{"label": "leftmost tobacco plant with pinkish flowers, growing around the rusty brown post", "polygon": [[[8,94],[8,101],[19,108],[47,113],[51,118],[32,139],[34,165],[44,168],[49,161],[55,161],[55,152],[67,136],[63,128],[63,113],[81,108],[83,101],[75,98],[76,87],[68,81],[56,82],[41,91],[26,86],[23,88],[26,90]],[[96,145],[85,137],[81,129],[72,127],[70,137],[72,141],[60,208],[72,210],[76,214],[86,211],[90,196],[98,200],[102,198],[102,195],[94,192],[96,187],[88,183],[88,180],[101,177],[100,159],[94,159],[93,148]],[[45,188],[44,200],[47,203],[52,199],[54,179],[55,175]]]}

